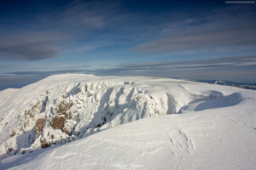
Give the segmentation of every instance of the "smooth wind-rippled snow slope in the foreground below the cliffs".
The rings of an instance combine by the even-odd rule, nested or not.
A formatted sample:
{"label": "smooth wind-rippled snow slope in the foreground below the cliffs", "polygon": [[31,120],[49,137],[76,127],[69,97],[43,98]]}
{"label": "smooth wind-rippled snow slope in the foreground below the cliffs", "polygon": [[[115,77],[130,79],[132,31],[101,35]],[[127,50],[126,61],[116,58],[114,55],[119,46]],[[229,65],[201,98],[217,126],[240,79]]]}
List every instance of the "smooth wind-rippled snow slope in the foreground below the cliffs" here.
{"label": "smooth wind-rippled snow slope in the foreground below the cliffs", "polygon": [[237,105],[125,123],[60,147],[10,156],[0,161],[0,166],[3,169],[254,169],[255,93],[245,90],[237,93],[241,100]]}

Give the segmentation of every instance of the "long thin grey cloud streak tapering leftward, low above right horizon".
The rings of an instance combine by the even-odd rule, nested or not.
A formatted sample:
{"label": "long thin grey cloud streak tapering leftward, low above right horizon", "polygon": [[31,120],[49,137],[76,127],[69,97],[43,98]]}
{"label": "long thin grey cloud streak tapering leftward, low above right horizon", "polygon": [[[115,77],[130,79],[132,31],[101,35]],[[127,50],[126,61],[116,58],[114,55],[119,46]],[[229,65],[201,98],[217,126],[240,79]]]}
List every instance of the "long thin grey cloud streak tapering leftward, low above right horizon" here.
{"label": "long thin grey cloud streak tapering leftward, low above right horizon", "polygon": [[[174,70],[211,70],[226,67],[255,66],[256,56],[222,57],[216,59],[197,59],[185,61],[161,61],[116,65],[108,71],[174,71]],[[103,73],[103,70],[102,70]]]}

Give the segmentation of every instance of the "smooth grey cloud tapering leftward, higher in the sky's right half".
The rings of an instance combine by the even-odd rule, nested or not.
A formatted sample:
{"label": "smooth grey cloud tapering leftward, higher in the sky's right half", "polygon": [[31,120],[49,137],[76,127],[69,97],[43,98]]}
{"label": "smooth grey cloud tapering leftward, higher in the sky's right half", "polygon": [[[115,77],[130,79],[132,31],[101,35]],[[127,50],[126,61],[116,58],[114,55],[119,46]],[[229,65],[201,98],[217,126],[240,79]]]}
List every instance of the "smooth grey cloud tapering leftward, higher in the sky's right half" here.
{"label": "smooth grey cloud tapering leftward, higher in the sky's right half", "polygon": [[256,29],[243,28],[236,30],[201,31],[169,37],[159,41],[144,43],[135,51],[152,54],[177,52],[182,50],[208,50],[226,47],[247,47],[256,45]]}

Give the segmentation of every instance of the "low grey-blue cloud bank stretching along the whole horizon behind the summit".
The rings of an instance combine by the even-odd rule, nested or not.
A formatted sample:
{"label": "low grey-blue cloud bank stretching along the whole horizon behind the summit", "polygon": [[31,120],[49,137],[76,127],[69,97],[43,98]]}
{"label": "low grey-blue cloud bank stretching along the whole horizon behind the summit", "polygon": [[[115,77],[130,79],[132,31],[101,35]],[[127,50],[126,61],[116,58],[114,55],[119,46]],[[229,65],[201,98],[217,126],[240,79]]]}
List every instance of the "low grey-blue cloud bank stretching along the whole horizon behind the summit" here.
{"label": "low grey-blue cloud bank stretching along the whole horizon behind the summit", "polygon": [[[245,69],[247,68],[247,69]],[[26,81],[40,80],[55,74],[83,73],[96,76],[146,76],[146,77],[180,77],[205,80],[236,81],[236,76],[249,78],[254,81],[256,74],[256,56],[222,57],[216,59],[198,59],[186,61],[142,62],[114,65],[112,68],[90,69],[90,65],[79,68],[63,67],[55,71],[11,71],[0,77],[0,82],[12,81],[13,84],[24,77]],[[201,78],[200,78],[201,77]],[[218,78],[220,77],[220,78]],[[16,82],[17,81],[17,82]],[[5,84],[5,83],[1,83]]]}

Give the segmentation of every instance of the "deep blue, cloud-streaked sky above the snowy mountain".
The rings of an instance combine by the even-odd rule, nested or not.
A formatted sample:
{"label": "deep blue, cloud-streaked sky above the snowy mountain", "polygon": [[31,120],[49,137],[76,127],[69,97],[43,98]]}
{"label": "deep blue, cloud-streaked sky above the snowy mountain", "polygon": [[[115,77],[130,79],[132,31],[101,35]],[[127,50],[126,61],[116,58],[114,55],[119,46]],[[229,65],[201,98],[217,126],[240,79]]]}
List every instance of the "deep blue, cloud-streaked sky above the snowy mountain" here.
{"label": "deep blue, cloud-streaked sky above the snowy mountain", "polygon": [[256,83],[255,15],[226,1],[1,1],[0,87],[67,72]]}

